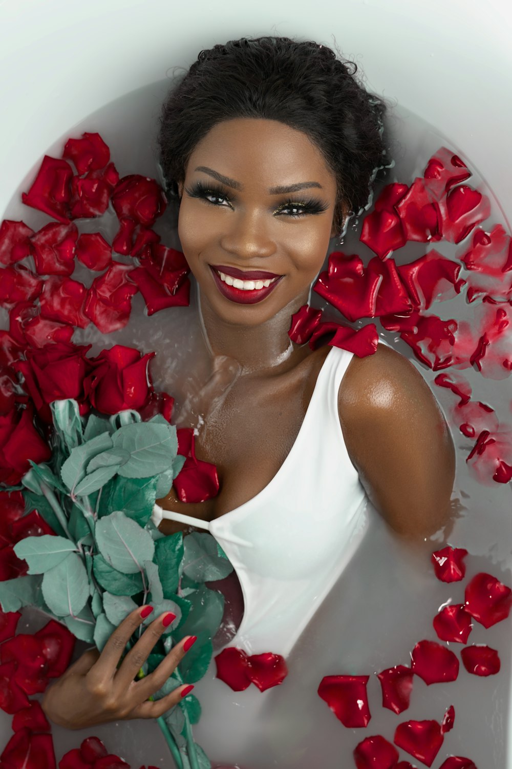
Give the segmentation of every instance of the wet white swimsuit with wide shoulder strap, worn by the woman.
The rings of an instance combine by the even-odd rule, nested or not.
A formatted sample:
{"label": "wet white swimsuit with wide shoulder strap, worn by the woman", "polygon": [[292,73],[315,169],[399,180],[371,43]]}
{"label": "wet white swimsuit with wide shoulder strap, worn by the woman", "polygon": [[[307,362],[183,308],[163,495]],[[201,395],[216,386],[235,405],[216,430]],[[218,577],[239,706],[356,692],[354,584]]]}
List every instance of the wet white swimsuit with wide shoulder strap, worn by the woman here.
{"label": "wet white swimsuit with wide shoulder strap, worn by the woman", "polygon": [[206,528],[230,559],[244,614],[226,645],[247,654],[289,654],[365,534],[369,500],[348,457],[338,411],[352,355],[330,349],[296,441],[256,497],[210,523],[154,507],[155,525],[169,518]]}

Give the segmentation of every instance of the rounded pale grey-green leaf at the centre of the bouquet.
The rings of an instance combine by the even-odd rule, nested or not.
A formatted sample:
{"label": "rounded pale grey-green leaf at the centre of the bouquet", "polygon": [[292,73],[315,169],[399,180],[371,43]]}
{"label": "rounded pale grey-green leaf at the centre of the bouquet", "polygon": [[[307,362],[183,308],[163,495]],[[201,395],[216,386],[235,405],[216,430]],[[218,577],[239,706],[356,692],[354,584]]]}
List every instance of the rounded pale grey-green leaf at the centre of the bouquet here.
{"label": "rounded pale grey-green leaf at the centre of the bouquet", "polygon": [[101,555],[117,571],[135,574],[142,571],[144,561],[153,561],[154,541],[150,534],[121,510],[100,518],[95,533]]}

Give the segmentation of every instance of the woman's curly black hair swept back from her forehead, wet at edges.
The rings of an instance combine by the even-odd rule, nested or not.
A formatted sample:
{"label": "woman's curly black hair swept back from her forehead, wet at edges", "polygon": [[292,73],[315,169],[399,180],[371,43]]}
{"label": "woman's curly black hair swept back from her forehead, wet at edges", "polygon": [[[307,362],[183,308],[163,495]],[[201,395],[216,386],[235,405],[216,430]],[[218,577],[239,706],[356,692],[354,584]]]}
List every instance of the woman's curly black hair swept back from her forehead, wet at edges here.
{"label": "woman's curly black hair swept back from her forehead, wet at edges", "polygon": [[367,207],[378,171],[391,165],[388,106],[358,82],[357,71],[326,45],[286,37],[240,38],[201,51],[160,115],[157,148],[167,197],[179,206],[177,183],[214,125],[243,117],[277,120],[303,131],[335,174],[340,233],[345,217]]}

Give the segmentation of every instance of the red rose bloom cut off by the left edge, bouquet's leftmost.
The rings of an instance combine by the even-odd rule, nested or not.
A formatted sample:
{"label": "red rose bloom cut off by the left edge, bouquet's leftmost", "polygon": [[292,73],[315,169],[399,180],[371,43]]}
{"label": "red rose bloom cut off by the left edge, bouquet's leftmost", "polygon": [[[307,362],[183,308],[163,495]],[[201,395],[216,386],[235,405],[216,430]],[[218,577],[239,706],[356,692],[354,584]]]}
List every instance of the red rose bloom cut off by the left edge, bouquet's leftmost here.
{"label": "red rose bloom cut off by the left edge, bouquet's leftmost", "polygon": [[0,414],[0,481],[18,484],[30,469],[29,459],[40,464],[50,457],[51,448],[34,427],[31,403]]}

